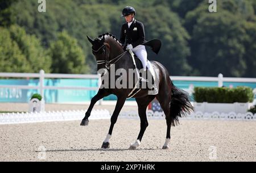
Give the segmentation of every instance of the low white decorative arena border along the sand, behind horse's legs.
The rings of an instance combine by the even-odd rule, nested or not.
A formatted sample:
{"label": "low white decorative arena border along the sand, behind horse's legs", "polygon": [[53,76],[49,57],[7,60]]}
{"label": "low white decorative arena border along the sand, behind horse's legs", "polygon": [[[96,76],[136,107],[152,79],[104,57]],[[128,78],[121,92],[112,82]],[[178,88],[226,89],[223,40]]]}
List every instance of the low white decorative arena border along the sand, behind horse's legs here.
{"label": "low white decorative arena border along the sand, behind horse's legs", "polygon": [[[26,112],[26,113],[2,113],[0,114],[0,124],[21,124],[21,123],[40,123],[51,121],[73,121],[81,120],[84,117],[86,110],[73,110],[73,111],[49,111],[49,112]],[[95,109],[92,111],[90,120],[110,119],[111,115],[107,109]],[[137,111],[123,111],[119,114],[122,119],[139,119]],[[148,119],[165,119],[164,112],[147,111]],[[187,117],[181,119],[186,120],[245,120],[256,121],[256,113],[203,113],[193,112]]]}

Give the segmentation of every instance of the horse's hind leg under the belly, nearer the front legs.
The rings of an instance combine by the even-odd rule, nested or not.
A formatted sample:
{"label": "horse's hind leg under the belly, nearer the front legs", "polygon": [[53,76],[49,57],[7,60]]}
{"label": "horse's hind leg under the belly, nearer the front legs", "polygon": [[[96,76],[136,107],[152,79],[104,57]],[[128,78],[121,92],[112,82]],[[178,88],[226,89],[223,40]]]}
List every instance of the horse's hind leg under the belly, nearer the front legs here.
{"label": "horse's hind leg under the belly, nearer the front legs", "polygon": [[139,135],[137,140],[130,146],[130,149],[136,149],[141,144],[141,140],[143,134],[148,126],[146,109],[148,104],[155,98],[155,95],[147,95],[144,98],[136,98],[136,102],[138,104],[138,113],[139,118],[141,119],[141,130],[139,131]]}

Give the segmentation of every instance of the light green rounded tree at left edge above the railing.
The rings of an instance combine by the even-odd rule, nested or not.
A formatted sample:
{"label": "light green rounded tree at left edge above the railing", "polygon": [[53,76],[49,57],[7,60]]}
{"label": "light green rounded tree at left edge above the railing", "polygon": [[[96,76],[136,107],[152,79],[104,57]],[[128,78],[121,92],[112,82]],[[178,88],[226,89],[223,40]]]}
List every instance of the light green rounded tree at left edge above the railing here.
{"label": "light green rounded tree at left edge above the railing", "polygon": [[50,72],[51,58],[34,35],[27,35],[23,28],[0,28],[1,71]]}

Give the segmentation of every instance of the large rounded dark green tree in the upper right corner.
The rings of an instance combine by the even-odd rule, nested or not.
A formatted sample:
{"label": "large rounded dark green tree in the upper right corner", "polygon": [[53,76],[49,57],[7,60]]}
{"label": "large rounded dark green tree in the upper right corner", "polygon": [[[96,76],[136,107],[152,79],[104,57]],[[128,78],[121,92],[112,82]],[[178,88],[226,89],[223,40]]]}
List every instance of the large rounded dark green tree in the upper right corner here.
{"label": "large rounded dark green tree in the upper right corner", "polygon": [[[230,77],[247,76],[246,68],[250,69],[253,61],[251,60],[249,65],[247,58],[251,57],[251,55],[246,56],[246,54],[253,51],[253,47],[251,47],[253,44],[250,42],[253,39],[246,38],[253,38],[253,35],[251,34],[248,37],[245,27],[247,25],[246,20],[250,21],[249,23],[251,24],[256,22],[253,2],[251,0],[218,1],[216,14],[210,14],[208,11],[209,4],[202,2],[196,9],[187,12],[184,19],[184,27],[192,37],[189,41],[191,56],[188,57],[188,62],[189,65],[192,65],[194,73],[216,76],[223,71],[222,73]],[[214,16],[217,17],[214,18]],[[224,22],[220,22],[221,20]],[[199,24],[199,22],[201,23]],[[196,28],[197,31],[195,31]],[[195,33],[199,35],[196,36]],[[206,41],[208,41],[207,45],[205,44]],[[212,44],[210,44],[211,41]],[[213,56],[209,57],[207,53],[213,54]],[[224,54],[226,57],[224,57]],[[209,61],[207,57],[210,58]],[[207,66],[200,64],[204,61],[208,64]],[[222,67],[218,66],[217,61],[221,62]],[[222,65],[224,62],[226,65]],[[209,69],[207,69],[208,67]]]}

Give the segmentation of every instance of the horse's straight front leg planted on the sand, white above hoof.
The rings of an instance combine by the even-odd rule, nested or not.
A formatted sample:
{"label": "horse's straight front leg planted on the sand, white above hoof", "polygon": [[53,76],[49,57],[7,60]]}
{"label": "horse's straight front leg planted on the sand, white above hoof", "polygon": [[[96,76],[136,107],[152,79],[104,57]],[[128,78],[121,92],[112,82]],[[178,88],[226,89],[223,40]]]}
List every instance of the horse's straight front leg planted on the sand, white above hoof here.
{"label": "horse's straight front leg planted on the sand, white above hoof", "polygon": [[115,109],[114,109],[113,115],[111,117],[111,124],[110,124],[110,128],[109,128],[109,133],[106,136],[106,139],[104,140],[104,142],[101,146],[102,149],[107,149],[110,146],[109,140],[112,136],[112,131],[113,131],[113,128],[114,128],[114,124],[117,122],[117,117],[118,117],[118,115],[119,115],[119,113],[120,113],[120,111],[123,107],[123,104],[125,104],[125,100],[126,100],[126,97],[122,97],[122,98],[117,99],[117,104],[115,105]]}

